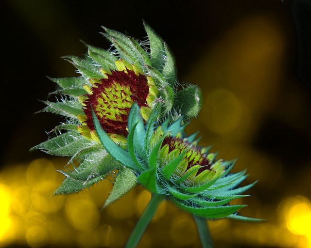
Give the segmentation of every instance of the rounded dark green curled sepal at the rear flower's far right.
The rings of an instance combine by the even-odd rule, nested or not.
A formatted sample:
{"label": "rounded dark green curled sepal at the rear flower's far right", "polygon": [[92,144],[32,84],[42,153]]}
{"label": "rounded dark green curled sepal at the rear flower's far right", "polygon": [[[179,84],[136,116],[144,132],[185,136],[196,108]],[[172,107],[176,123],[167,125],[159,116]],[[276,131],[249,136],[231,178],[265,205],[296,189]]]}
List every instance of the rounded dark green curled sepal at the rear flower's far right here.
{"label": "rounded dark green curled sepal at the rear flower's far right", "polygon": [[202,91],[197,85],[188,86],[177,92],[174,101],[174,107],[181,110],[181,114],[186,120],[198,116],[202,105]]}

